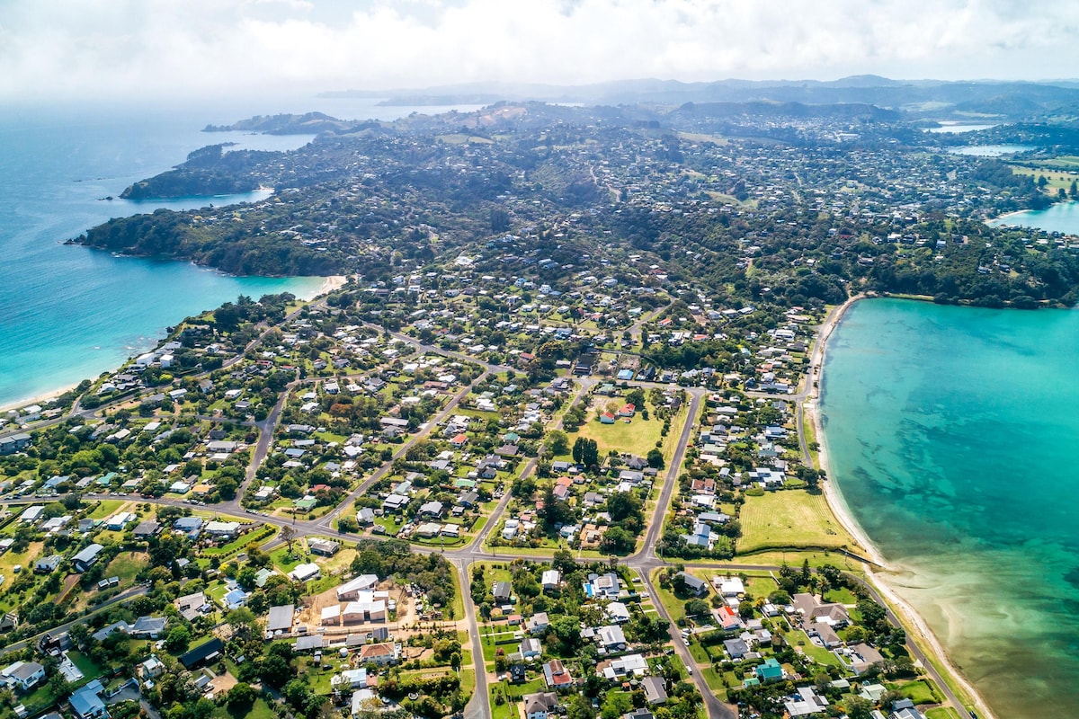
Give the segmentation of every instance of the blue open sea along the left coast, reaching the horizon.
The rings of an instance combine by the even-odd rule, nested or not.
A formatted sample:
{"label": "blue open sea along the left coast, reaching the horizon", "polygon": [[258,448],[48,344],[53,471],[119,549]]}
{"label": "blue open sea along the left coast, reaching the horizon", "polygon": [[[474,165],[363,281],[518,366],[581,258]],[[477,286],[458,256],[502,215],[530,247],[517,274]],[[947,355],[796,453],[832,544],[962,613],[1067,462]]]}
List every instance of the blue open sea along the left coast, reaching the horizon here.
{"label": "blue open sea along the left coast, reaching the horizon", "polygon": [[319,278],[230,277],[190,263],[115,258],[63,243],[114,217],[257,199],[108,201],[207,144],[292,150],[311,136],[202,133],[254,114],[322,111],[393,120],[455,108],[286,98],[192,106],[0,108],[0,406],[74,385],[153,346],[183,317],[245,294],[311,298]]}

